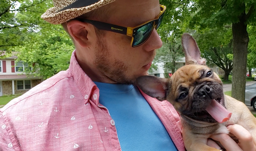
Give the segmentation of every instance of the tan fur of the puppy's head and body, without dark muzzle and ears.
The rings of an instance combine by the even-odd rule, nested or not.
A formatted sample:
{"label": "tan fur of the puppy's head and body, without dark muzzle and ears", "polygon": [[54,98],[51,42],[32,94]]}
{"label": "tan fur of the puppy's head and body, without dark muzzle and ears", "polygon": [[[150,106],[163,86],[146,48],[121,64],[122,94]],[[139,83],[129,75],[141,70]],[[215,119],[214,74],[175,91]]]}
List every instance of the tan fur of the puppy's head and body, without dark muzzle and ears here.
{"label": "tan fur of the puppy's head and body, without dark muzzle and ears", "polygon": [[[189,100],[185,102],[176,102],[175,98],[178,97],[179,91],[178,87],[184,86],[188,87],[190,91],[189,97],[193,96],[195,87],[205,80],[209,82],[218,82],[219,85],[222,85],[220,78],[217,74],[213,74],[209,78],[201,78],[200,70],[206,69],[211,70],[204,65],[185,65],[177,72],[173,74],[170,82],[172,85],[170,87],[171,92],[167,96],[167,100],[175,107],[182,117],[182,112],[180,110],[181,106],[191,106]],[[253,136],[254,143],[256,142],[256,119],[251,114],[246,105],[238,100],[225,96],[225,104],[228,111],[232,112],[231,119],[222,124],[220,123],[207,123],[199,121],[191,121],[184,117],[181,118],[183,126],[183,138],[185,142],[185,147],[188,151],[198,151],[198,150],[219,150],[206,145],[207,138],[216,133],[228,133],[227,125],[230,124],[239,124],[247,129]],[[208,133],[212,131],[211,133]],[[199,133],[199,134],[195,134]],[[255,143],[256,145],[256,143]]]}

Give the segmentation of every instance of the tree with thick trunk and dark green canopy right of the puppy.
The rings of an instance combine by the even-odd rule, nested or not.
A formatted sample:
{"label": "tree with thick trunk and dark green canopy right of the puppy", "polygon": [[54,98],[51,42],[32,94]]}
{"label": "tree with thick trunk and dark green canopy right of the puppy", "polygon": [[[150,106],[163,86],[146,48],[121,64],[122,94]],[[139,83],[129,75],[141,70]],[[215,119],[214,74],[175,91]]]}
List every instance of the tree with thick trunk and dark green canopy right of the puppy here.
{"label": "tree with thick trunk and dark green canopy right of the puppy", "polygon": [[191,24],[198,29],[229,26],[233,35],[233,83],[231,96],[244,102],[247,46],[247,25],[255,26],[255,1],[195,0],[191,1],[195,15]]}

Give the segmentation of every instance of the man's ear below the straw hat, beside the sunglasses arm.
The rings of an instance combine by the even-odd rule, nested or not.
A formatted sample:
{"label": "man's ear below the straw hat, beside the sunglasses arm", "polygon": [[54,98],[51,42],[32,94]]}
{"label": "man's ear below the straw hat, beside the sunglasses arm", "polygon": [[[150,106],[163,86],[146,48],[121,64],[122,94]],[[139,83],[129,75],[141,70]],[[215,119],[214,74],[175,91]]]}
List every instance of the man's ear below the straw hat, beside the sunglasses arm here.
{"label": "man's ear below the straw hat, beside the sunglasses arm", "polygon": [[94,28],[91,24],[78,20],[69,21],[67,23],[67,29],[74,41],[82,47],[88,47],[91,44],[90,36],[95,35]]}

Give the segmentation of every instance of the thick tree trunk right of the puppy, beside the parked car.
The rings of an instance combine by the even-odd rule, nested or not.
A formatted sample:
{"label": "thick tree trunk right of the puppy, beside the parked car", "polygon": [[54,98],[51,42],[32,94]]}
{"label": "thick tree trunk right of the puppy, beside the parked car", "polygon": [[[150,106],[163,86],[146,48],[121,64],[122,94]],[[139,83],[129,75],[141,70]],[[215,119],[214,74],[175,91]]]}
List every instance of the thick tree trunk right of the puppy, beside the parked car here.
{"label": "thick tree trunk right of the puppy, beside the parked car", "polygon": [[246,83],[246,62],[249,36],[245,23],[245,12],[239,17],[239,22],[232,24],[234,40],[234,65],[231,96],[244,102]]}

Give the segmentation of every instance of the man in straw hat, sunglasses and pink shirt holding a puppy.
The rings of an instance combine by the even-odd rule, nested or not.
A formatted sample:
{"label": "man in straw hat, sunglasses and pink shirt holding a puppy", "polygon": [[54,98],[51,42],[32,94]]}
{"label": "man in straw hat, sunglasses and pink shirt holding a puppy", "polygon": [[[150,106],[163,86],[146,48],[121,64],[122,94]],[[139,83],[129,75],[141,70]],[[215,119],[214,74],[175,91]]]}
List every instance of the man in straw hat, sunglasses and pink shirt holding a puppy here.
{"label": "man in straw hat, sunglasses and pink shirt holding a puppy", "polygon": [[132,85],[162,46],[156,29],[166,7],[158,0],[53,2],[42,18],[61,23],[76,50],[67,71],[1,109],[0,148],[185,150],[173,106]]}

